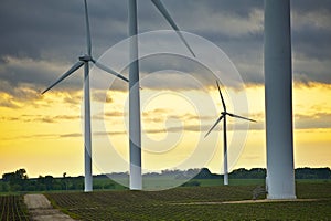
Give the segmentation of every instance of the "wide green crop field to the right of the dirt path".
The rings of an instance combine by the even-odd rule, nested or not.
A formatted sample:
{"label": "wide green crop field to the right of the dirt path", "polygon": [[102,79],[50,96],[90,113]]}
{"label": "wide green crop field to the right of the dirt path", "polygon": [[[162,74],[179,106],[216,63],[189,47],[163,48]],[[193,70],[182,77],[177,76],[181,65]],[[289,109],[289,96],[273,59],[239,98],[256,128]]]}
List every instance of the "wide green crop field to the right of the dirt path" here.
{"label": "wide green crop field to the right of the dirt path", "polygon": [[331,183],[297,183],[307,201],[223,203],[249,200],[256,186],[189,187],[166,191],[46,193],[54,207],[79,220],[329,220]]}

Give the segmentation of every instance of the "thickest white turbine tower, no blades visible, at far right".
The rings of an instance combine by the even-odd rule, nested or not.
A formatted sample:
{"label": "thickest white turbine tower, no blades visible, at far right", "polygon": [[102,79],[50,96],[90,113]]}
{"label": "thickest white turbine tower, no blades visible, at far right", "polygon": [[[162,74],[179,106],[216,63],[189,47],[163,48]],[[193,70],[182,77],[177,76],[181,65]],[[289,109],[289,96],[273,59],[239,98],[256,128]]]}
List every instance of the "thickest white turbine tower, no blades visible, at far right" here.
{"label": "thickest white turbine tower, no blades visible, at far right", "polygon": [[268,199],[296,199],[290,0],[265,0]]}

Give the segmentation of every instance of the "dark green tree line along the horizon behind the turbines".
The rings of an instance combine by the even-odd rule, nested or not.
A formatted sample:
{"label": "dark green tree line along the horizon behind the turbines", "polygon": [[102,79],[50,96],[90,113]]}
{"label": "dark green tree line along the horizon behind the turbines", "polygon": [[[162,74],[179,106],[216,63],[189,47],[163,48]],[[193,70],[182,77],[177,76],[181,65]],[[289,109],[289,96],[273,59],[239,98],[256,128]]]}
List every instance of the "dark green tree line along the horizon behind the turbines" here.
{"label": "dark green tree line along the horizon behind the turbines", "polygon": [[[231,179],[265,179],[267,170],[265,168],[236,169],[229,173]],[[117,176],[128,176],[125,173],[116,173]],[[158,176],[175,176],[178,179],[196,175],[194,179],[222,179],[222,175],[212,173],[207,168],[189,169],[189,170],[164,170],[161,173],[148,173],[147,177]],[[296,179],[331,179],[330,168],[298,168],[296,169]],[[95,180],[107,178],[106,175],[95,176]],[[194,181],[193,179],[193,181]],[[116,183],[113,180],[107,182],[94,182],[94,189],[115,189]],[[14,172],[2,175],[0,180],[0,192],[17,191],[50,191],[50,190],[83,190],[84,177],[66,177],[63,173],[61,178],[52,176],[39,176],[38,178],[29,178],[25,169],[18,169]]]}

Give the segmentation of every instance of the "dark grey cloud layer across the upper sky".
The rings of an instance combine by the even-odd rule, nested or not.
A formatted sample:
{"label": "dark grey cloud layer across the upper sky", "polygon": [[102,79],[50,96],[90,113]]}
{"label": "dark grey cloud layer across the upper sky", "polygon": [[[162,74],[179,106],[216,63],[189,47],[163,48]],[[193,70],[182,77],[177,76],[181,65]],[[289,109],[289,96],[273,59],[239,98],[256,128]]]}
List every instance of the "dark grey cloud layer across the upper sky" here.
{"label": "dark grey cloud layer across the upper sky", "polygon": [[[83,3],[83,0],[1,1],[0,84],[8,85],[1,86],[1,92],[22,95],[19,86],[29,84],[38,93],[85,53]],[[163,3],[183,31],[200,34],[224,50],[245,82],[263,84],[263,0],[163,0]],[[127,1],[90,0],[88,7],[97,57],[127,36]],[[295,80],[331,83],[331,1],[292,0],[291,7]],[[138,8],[140,32],[170,29],[151,1],[139,0]],[[149,65],[146,70],[157,64]],[[82,77],[76,77],[56,88],[81,87]]]}

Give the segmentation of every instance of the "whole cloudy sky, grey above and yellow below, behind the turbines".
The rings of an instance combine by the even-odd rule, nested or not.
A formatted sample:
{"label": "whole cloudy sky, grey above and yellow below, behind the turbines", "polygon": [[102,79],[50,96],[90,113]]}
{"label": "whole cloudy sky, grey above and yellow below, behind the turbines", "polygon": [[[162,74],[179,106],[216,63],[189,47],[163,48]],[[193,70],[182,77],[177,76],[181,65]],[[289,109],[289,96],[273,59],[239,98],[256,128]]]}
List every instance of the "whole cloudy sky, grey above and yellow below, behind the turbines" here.
{"label": "whole cloudy sky, grey above and yellow below, behind the turbines", "polygon": [[[162,2],[183,31],[222,49],[243,80],[241,90],[222,85],[228,109],[257,120],[228,122],[231,169],[266,167],[263,0]],[[127,1],[94,0],[88,7],[93,54],[99,57],[128,35]],[[139,33],[170,30],[149,0],[138,0],[138,19]],[[291,1],[297,168],[331,167],[330,21],[329,0]],[[86,51],[83,0],[1,0],[0,27],[0,173],[25,168],[30,177],[83,175],[83,72],[40,94]],[[120,71],[128,76],[127,69]],[[220,173],[222,126],[203,138],[222,110],[213,75],[167,55],[143,60],[140,71],[143,167],[204,166]],[[105,123],[103,131],[94,130],[94,173],[128,170],[117,162],[128,158],[128,87],[116,80],[108,88],[93,93],[104,114],[94,113],[93,123]],[[247,109],[241,112],[234,97],[243,95]],[[117,155],[108,158],[103,148],[109,146]],[[193,161],[185,161],[189,156]]]}

